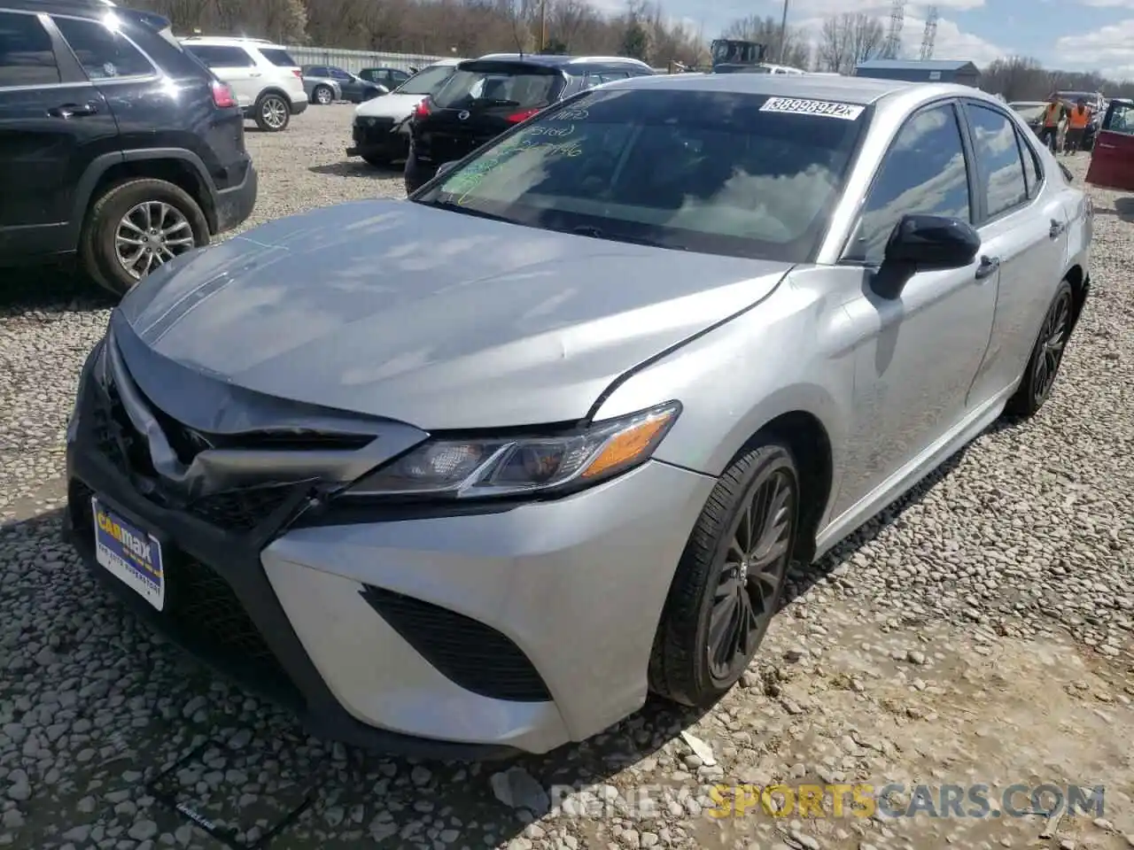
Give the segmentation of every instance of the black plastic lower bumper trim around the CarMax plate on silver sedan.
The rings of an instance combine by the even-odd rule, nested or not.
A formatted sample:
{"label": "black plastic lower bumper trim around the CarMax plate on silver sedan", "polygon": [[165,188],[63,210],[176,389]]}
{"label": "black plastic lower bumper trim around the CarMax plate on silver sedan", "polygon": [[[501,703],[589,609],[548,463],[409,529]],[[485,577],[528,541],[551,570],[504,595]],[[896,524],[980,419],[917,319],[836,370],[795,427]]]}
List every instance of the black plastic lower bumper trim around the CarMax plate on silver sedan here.
{"label": "black plastic lower bumper trim around the CarMax plate on silver sedan", "polygon": [[[79,388],[79,392],[88,388]],[[79,410],[83,410],[82,403]],[[64,521],[64,535],[76,546],[83,560],[95,576],[118,593],[141,618],[158,631],[167,635],[192,655],[231,678],[237,685],[255,690],[273,703],[295,712],[305,731],[316,738],[336,740],[369,750],[417,756],[421,758],[480,760],[507,758],[519,753],[510,746],[462,743],[418,738],[399,732],[371,726],[353,717],[335,698],[315,665],[291,628],[287,614],[280,605],[271,583],[263,570],[260,553],[268,539],[263,534],[240,535],[222,532],[213,526],[167,510],[138,494],[129,481],[105,460],[91,444],[90,432],[81,420],[76,440],[67,447],[67,477],[69,492],[74,482],[81,482],[100,501],[124,519],[136,522],[141,528],[158,536],[171,552],[184,553],[210,567],[231,588],[243,605],[280,668],[294,685],[291,688],[272,687],[254,671],[231,655],[203,651],[202,644],[184,631],[171,629],[170,621],[162,617],[139,595],[133,593],[110,576],[94,558],[93,545],[84,544],[86,533],[74,527],[76,515],[83,516],[82,507],[68,500]],[[296,508],[304,494],[297,491]],[[88,508],[87,508],[88,510]],[[90,529],[93,534],[93,529]],[[270,536],[269,536],[270,538]],[[223,564],[222,567],[219,567]],[[176,562],[171,563],[176,568]]]}

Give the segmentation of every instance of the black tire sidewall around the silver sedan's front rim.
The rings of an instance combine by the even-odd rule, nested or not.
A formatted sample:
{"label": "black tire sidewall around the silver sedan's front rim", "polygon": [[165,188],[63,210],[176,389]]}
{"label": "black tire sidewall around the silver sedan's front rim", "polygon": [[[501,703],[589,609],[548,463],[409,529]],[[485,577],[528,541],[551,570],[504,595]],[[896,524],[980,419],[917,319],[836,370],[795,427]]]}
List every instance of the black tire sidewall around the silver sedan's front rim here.
{"label": "black tire sidewall around the silver sedan's front rim", "polygon": [[[744,669],[736,671],[736,673],[728,679],[717,679],[712,674],[711,666],[709,664],[709,619],[712,615],[712,603],[713,595],[717,589],[717,585],[720,581],[720,573],[725,566],[725,554],[728,550],[729,543],[731,541],[731,528],[733,524],[737,519],[737,515],[744,510],[748,501],[753,496],[753,490],[756,482],[765,474],[776,470],[785,470],[792,477],[792,486],[794,488],[794,505],[792,513],[792,545],[794,549],[795,538],[798,533],[798,520],[799,520],[799,473],[798,467],[795,464],[795,459],[786,447],[779,445],[777,443],[768,443],[761,447],[764,450],[764,456],[760,458],[756,464],[746,471],[744,478],[742,479],[741,496],[733,501],[729,511],[721,524],[718,533],[717,544],[712,553],[712,567],[705,576],[704,587],[702,588],[701,598],[699,601],[697,611],[697,626],[696,626],[696,646],[702,647],[693,656],[694,660],[694,678],[695,681],[702,688],[711,688],[718,691],[726,691],[736,683],[736,681],[744,673]],[[788,552],[787,564],[792,561],[793,553]],[[772,597],[772,611],[775,612],[779,607],[780,600],[784,597],[784,588],[787,585],[787,564],[784,568],[784,576],[780,578],[779,586],[776,588],[776,594]],[[764,624],[764,630],[758,636],[758,646],[763,640],[767,634],[768,623]]]}

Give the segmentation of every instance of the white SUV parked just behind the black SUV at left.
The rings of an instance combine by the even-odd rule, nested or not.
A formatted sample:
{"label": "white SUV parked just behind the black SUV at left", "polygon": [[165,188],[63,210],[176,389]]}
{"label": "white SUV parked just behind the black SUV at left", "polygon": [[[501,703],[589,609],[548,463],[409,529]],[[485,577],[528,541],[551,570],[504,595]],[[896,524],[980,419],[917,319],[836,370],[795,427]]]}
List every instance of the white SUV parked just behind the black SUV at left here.
{"label": "white SUV parked just behind the black SUV at left", "polygon": [[236,100],[265,133],[279,133],[307,109],[299,63],[263,39],[191,35],[181,45],[232,88]]}

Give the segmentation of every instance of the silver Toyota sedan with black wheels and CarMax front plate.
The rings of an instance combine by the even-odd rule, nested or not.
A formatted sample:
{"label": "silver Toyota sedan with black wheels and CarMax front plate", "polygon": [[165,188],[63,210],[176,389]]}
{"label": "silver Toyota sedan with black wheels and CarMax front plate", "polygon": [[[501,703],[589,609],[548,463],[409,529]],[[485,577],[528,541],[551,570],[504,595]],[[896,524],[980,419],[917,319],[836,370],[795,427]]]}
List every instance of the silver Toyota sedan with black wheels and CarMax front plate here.
{"label": "silver Toyota sedan with black wheels and CarMax front plate", "polygon": [[603,85],[147,277],[79,382],[68,533],[316,734],[542,753],[705,706],[790,559],[1041,408],[1091,216],[972,88]]}

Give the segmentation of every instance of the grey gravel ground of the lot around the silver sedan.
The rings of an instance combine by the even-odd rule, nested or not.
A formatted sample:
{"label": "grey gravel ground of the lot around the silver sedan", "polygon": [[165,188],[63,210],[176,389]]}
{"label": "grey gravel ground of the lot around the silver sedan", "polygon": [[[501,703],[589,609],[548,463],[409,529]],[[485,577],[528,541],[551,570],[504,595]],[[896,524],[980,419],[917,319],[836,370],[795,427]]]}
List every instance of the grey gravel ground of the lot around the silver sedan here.
{"label": "grey gravel ground of the lot around the silver sedan", "polygon": [[[328,107],[248,134],[262,187],[249,226],[403,194],[400,175],[345,161],[348,126],[348,108]],[[310,799],[272,850],[1134,847],[1134,203],[1093,195],[1094,291],[1039,417],[991,430],[794,573],[765,651],[711,713],[651,705],[505,765],[304,739],[78,569],[57,542],[62,433],[108,307],[58,274],[22,274],[0,305],[0,844],[221,847],[155,799],[164,790],[248,841]],[[1013,783],[1103,784],[1105,811],[711,816],[713,784],[777,782],[902,783],[897,805],[917,783],[983,783],[993,810]]]}

